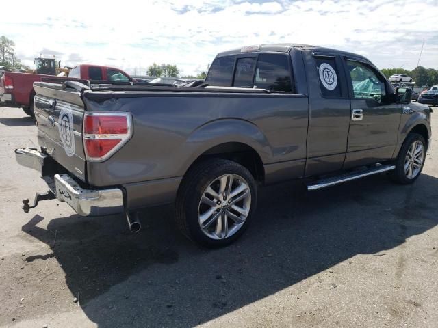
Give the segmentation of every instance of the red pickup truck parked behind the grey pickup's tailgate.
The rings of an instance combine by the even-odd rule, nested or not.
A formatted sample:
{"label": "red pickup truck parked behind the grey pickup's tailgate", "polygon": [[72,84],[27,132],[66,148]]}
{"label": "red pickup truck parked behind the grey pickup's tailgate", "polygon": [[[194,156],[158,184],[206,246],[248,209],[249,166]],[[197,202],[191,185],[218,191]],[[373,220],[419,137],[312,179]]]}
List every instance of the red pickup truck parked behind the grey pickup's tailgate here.
{"label": "red pickup truck parked behind the grey pickup's tailgate", "polygon": [[0,107],[21,107],[34,116],[34,82],[51,82],[54,79],[133,82],[129,74],[109,66],[78,65],[70,70],[68,77],[53,75],[4,72],[0,77]]}

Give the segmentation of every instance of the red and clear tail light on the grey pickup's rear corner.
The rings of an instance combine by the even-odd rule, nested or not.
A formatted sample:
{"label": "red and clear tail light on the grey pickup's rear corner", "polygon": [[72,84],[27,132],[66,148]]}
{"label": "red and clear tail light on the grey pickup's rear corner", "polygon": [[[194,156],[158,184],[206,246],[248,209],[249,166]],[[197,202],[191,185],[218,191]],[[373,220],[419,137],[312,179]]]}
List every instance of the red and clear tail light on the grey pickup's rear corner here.
{"label": "red and clear tail light on the grey pickup's rear corner", "polygon": [[105,161],[131,136],[130,113],[86,113],[83,118],[83,146],[87,161]]}

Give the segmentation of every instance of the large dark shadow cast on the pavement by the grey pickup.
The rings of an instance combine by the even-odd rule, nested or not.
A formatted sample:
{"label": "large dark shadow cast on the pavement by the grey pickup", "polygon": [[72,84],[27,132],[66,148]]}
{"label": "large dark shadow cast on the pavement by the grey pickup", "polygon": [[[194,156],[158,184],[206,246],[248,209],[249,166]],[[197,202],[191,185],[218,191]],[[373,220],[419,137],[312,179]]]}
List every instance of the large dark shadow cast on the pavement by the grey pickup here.
{"label": "large dark shadow cast on the pavement by the grey pickup", "polygon": [[297,185],[261,189],[248,232],[224,249],[186,241],[170,206],[145,212],[138,234],[122,217],[76,215],[51,220],[51,232],[35,226],[37,215],[23,231],[51,246],[53,254],[39,258],[62,264],[68,288],[99,327],[193,327],[438,223],[430,202],[438,179],[426,174],[411,186],[384,175],[311,193]]}

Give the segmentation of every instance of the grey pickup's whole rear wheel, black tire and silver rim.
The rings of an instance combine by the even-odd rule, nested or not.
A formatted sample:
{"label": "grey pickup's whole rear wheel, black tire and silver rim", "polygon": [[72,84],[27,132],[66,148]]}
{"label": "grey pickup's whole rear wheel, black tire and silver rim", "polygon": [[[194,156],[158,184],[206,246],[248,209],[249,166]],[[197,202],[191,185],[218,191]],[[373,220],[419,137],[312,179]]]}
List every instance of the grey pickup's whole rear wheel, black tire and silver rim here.
{"label": "grey pickup's whole rear wheel, black tire and silver rim", "polygon": [[179,188],[177,224],[205,247],[224,247],[242,236],[257,206],[257,185],[246,167],[209,159],[190,169]]}

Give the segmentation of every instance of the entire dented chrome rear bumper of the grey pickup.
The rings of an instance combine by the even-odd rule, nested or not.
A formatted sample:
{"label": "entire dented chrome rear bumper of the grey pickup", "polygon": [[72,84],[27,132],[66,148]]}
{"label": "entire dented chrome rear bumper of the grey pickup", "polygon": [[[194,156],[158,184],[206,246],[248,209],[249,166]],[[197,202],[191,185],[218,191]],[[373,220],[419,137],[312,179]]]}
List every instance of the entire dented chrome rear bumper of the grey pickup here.
{"label": "entire dented chrome rear bumper of the grey pickup", "polygon": [[46,175],[49,174],[47,166],[51,166],[53,159],[34,148],[18,148],[15,150],[15,156],[18,164],[40,172],[57,199],[66,202],[77,214],[93,217],[124,212],[122,189],[115,187],[86,189],[81,187],[69,174],[48,176]]}

